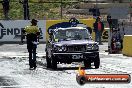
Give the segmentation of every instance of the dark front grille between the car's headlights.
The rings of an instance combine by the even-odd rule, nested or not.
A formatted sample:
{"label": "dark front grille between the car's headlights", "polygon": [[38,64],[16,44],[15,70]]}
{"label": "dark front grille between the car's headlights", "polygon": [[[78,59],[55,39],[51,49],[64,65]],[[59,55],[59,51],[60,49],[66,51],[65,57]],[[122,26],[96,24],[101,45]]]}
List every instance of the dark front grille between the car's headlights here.
{"label": "dark front grille between the car's headlights", "polygon": [[67,52],[86,51],[86,45],[67,46]]}

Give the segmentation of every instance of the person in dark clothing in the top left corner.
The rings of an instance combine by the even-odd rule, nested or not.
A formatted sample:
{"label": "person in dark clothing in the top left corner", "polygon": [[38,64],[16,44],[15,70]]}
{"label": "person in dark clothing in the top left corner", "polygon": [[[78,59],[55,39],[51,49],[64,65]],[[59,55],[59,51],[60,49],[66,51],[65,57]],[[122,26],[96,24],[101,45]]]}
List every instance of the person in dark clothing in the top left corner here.
{"label": "person in dark clothing in the top left corner", "polygon": [[0,3],[2,3],[3,6],[3,13],[6,20],[9,20],[8,13],[9,13],[9,0],[3,0]]}

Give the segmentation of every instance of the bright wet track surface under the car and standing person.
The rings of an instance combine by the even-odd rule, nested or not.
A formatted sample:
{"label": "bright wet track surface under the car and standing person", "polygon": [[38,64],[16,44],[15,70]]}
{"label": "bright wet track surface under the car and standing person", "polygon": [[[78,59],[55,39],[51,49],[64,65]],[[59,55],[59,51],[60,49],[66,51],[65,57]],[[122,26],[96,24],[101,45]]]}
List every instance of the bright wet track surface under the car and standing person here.
{"label": "bright wet track surface under the car and standing person", "polygon": [[[26,45],[0,46],[0,88],[132,88],[132,84],[86,84],[76,82],[76,73],[83,63],[58,64],[57,70],[47,69],[45,45],[37,49],[37,69],[29,70]],[[7,48],[7,50],[6,50]],[[132,58],[104,52],[107,44],[100,46],[99,69],[84,68],[87,74],[130,74]]]}

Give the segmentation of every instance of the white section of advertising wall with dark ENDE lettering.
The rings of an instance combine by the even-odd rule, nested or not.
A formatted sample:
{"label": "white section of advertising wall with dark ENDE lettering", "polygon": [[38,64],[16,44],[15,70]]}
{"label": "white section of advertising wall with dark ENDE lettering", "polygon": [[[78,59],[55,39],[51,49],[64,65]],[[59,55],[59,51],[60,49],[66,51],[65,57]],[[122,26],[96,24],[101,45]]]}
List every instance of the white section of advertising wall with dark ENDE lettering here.
{"label": "white section of advertising wall with dark ENDE lettering", "polygon": [[[12,43],[21,41],[21,30],[30,25],[30,20],[0,20],[0,43]],[[45,41],[46,21],[38,20],[41,32],[40,41]]]}

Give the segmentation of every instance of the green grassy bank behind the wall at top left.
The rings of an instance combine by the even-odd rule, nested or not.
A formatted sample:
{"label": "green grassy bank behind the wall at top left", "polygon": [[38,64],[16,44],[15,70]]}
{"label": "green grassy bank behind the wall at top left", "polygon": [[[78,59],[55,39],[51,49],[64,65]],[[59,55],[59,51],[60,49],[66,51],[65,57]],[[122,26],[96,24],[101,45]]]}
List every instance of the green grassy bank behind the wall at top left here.
{"label": "green grassy bank behind the wall at top left", "polygon": [[[73,0],[62,0],[63,8],[71,6]],[[46,3],[54,2],[54,3]],[[29,0],[30,19],[60,19],[61,0]],[[4,19],[2,4],[0,3],[0,19]],[[23,19],[23,5],[19,0],[10,0],[9,18],[12,20]]]}

